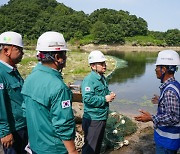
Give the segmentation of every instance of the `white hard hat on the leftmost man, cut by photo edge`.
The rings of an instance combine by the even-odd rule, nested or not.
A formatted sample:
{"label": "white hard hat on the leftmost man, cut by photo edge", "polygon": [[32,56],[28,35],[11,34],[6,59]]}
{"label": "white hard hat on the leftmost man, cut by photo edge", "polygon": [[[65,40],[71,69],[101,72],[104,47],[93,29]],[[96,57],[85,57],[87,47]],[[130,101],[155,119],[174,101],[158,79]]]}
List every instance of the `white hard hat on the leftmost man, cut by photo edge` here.
{"label": "white hard hat on the leftmost man, cut by photo edge", "polygon": [[0,35],[0,44],[23,47],[22,36],[16,32],[4,32]]}

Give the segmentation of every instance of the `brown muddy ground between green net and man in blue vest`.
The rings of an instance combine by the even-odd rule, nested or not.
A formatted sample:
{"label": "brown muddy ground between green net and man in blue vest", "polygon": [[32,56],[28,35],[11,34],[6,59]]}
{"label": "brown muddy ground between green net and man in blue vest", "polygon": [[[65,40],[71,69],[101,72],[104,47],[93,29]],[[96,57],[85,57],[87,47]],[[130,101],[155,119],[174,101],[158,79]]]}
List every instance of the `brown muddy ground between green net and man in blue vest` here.
{"label": "brown muddy ground between green net and man in blue vest", "polygon": [[125,138],[129,141],[128,146],[123,146],[115,151],[107,151],[105,154],[155,154],[153,123],[137,122],[134,120],[135,115],[126,114],[126,116],[136,122],[138,126],[137,132]]}

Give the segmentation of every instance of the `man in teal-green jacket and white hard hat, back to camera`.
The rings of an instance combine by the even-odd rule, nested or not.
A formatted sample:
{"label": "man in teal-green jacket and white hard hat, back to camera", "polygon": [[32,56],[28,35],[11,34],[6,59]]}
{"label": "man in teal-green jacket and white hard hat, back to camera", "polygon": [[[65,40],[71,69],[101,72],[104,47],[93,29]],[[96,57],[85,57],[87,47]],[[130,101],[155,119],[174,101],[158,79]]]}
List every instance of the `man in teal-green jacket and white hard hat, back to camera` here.
{"label": "man in teal-green jacket and white hard hat, back to camera", "polygon": [[77,154],[72,93],[61,76],[68,50],[63,35],[45,32],[36,50],[40,63],[22,88],[30,148],[38,154]]}

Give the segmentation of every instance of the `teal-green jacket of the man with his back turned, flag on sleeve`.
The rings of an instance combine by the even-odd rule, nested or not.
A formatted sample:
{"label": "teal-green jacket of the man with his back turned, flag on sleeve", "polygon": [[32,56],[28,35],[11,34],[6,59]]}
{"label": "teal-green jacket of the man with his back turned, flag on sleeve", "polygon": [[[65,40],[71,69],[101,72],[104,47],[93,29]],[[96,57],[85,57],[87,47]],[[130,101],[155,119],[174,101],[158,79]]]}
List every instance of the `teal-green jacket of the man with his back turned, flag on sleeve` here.
{"label": "teal-green jacket of the man with his back turned, flag on sleeve", "polygon": [[63,140],[75,138],[72,92],[61,73],[37,64],[22,88],[30,148],[38,154],[65,154]]}

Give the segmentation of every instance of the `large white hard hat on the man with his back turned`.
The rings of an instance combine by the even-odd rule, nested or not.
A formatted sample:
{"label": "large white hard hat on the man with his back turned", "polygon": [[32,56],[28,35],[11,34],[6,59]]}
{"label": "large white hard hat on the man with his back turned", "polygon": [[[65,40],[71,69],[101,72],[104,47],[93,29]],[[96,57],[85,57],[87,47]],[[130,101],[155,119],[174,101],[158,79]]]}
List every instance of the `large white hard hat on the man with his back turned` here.
{"label": "large white hard hat on the man with his back turned", "polygon": [[66,42],[61,33],[58,32],[45,32],[37,41],[37,51],[67,51]]}

